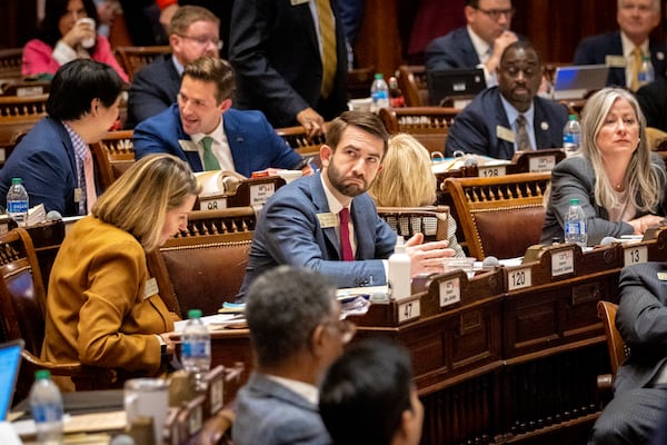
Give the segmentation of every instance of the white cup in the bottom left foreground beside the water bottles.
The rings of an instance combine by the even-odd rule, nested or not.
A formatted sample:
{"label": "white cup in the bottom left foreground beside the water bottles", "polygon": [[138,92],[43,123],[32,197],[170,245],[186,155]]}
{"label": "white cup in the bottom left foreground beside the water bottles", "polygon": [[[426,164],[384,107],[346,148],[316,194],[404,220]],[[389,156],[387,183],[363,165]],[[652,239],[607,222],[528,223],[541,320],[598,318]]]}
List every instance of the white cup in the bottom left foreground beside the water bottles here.
{"label": "white cup in the bottom left foreground beside the water bottles", "polygon": [[152,417],[156,443],[162,443],[165,419],[169,409],[167,380],[161,378],[132,378],[125,383],[123,406],[128,427],[137,417]]}

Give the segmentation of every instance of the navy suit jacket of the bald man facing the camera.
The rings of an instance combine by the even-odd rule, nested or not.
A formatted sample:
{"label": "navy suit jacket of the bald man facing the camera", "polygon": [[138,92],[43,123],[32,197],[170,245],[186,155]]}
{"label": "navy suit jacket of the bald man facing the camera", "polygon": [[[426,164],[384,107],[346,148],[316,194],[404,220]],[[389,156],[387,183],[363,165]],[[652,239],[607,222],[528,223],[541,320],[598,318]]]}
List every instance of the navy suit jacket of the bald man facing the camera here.
{"label": "navy suit jacket of the bald man facing the camera", "polygon": [[[552,100],[534,99],[534,130],[537,148],[563,147],[563,127],[568,119],[567,108]],[[497,126],[511,130],[497,87],[481,91],[454,120],[447,136],[446,156],[456,150],[511,159],[514,144],[498,138]]]}

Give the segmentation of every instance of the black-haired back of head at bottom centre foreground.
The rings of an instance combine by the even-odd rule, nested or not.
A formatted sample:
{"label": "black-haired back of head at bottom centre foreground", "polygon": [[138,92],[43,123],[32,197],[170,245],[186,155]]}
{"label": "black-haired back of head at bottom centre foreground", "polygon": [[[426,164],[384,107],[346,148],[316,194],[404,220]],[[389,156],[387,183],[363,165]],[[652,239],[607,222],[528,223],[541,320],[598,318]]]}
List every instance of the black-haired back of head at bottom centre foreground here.
{"label": "black-haired back of head at bottom centre foreground", "polygon": [[[380,339],[349,346],[331,365],[320,388],[320,415],[334,443],[390,444],[401,428],[404,413],[412,409],[411,379],[405,348]],[[421,418],[418,422],[420,433]],[[419,434],[415,436],[419,442]]]}

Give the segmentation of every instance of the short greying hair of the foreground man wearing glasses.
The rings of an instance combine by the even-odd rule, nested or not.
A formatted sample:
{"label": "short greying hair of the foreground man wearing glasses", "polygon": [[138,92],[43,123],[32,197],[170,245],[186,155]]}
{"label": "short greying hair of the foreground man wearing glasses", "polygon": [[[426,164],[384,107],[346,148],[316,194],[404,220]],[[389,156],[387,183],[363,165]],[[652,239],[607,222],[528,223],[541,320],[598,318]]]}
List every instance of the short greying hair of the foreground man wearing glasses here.
{"label": "short greying hair of the foreground man wearing glasses", "polygon": [[278,266],[248,288],[246,319],[260,368],[310,349],[316,327],[332,317],[336,288],[315,271]]}

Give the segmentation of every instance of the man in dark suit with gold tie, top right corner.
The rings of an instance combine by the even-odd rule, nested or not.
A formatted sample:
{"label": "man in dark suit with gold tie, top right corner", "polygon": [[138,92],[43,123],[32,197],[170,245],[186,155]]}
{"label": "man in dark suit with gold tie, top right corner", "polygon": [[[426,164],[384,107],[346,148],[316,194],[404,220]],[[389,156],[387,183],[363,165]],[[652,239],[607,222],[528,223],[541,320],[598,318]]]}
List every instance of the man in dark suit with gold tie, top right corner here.
{"label": "man in dark suit with gold tie, top right corner", "polygon": [[[659,0],[618,0],[616,21],[620,30],[588,37],[575,51],[575,65],[609,66],[607,85],[627,87],[636,91],[638,85],[635,57],[650,56],[655,76],[665,76],[667,49],[650,31],[660,22]],[[640,53],[635,56],[635,48]]]}

